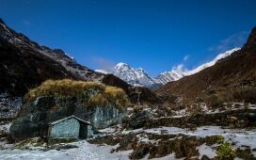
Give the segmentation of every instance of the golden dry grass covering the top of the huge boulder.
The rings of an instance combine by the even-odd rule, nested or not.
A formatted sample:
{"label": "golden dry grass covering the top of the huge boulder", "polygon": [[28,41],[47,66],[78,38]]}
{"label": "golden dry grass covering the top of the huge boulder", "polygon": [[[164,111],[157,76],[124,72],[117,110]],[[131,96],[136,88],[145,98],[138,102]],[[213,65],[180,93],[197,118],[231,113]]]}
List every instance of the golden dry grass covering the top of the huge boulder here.
{"label": "golden dry grass covering the top of the huge boulder", "polygon": [[47,80],[38,88],[33,88],[26,93],[24,100],[31,102],[36,100],[37,97],[50,95],[73,97],[92,90],[97,90],[97,93],[92,94],[88,98],[88,101],[85,101],[88,105],[104,106],[113,104],[121,108],[130,104],[126,93],[121,88],[106,86],[102,83],[74,81],[70,79]]}

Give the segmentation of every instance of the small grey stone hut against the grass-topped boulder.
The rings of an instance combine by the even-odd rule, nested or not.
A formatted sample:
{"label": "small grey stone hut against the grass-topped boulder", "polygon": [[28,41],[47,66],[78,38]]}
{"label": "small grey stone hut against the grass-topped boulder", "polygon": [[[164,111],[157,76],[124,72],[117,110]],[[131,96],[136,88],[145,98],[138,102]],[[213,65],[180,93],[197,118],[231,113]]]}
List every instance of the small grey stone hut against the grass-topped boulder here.
{"label": "small grey stone hut against the grass-topped boulder", "polygon": [[85,139],[93,136],[92,126],[89,121],[81,120],[75,116],[53,121],[49,124],[48,140]]}

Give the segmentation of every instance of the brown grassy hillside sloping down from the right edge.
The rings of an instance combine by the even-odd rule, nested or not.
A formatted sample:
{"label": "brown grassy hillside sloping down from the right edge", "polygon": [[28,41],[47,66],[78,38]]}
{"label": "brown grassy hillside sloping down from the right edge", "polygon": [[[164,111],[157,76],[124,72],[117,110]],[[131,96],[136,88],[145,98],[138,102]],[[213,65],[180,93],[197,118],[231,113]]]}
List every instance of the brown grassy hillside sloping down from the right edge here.
{"label": "brown grassy hillside sloping down from the right edge", "polygon": [[[256,89],[256,27],[242,49],[220,59],[212,67],[170,82],[154,91],[160,95],[176,95],[184,102],[255,102]],[[219,102],[220,103],[220,102]]]}

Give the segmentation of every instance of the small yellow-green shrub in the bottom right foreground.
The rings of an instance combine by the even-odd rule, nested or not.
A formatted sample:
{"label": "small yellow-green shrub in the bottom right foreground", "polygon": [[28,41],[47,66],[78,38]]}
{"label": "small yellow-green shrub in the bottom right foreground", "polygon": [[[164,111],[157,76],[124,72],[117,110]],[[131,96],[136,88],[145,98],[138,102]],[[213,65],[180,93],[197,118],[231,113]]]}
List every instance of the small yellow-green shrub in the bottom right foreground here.
{"label": "small yellow-green shrub in the bottom right foreground", "polygon": [[236,156],[236,152],[232,149],[230,143],[222,143],[216,150],[217,157],[225,160],[232,160]]}

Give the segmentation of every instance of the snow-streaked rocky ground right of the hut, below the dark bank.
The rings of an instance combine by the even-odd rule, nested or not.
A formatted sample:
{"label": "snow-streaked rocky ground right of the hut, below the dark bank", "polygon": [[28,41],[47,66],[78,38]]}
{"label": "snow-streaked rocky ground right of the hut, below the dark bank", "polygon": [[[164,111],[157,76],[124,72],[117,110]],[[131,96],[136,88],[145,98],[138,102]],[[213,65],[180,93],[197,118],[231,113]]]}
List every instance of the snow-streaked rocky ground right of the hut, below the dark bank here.
{"label": "snow-streaked rocky ground right of the hut, below the dark bank", "polygon": [[194,130],[178,127],[122,130],[116,127],[104,129],[102,132],[104,136],[88,142],[116,146],[112,152],[132,151],[129,154],[131,159],[166,156],[177,159],[223,159],[221,152],[232,154],[231,151],[234,153],[230,159],[253,159],[256,155],[255,129],[201,126]]}

